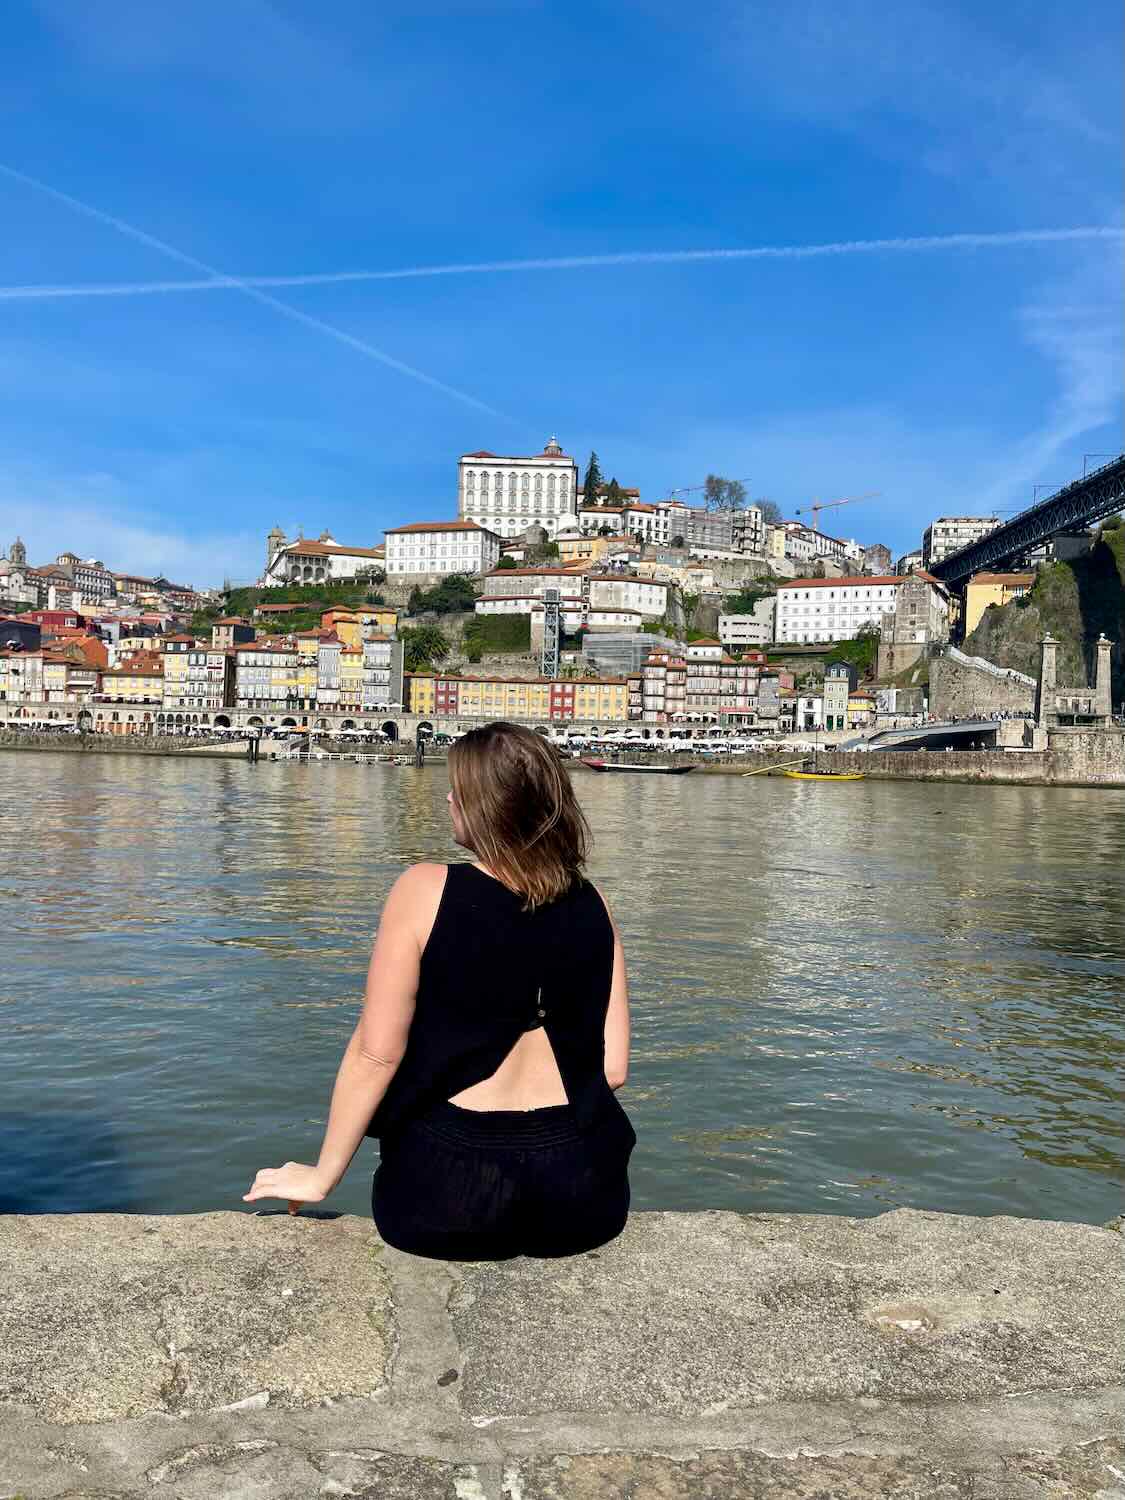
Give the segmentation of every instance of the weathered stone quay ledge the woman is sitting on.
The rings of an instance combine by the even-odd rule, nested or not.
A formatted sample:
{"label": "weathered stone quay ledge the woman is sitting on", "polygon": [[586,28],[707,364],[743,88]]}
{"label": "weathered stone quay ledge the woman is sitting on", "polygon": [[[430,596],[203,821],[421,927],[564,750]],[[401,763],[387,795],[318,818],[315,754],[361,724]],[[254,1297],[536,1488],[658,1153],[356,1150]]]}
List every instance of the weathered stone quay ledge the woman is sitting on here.
{"label": "weathered stone quay ledge the woman is sitting on", "polygon": [[1125,1239],[634,1214],[450,1264],[357,1216],[0,1218],[0,1496],[1120,1500]]}

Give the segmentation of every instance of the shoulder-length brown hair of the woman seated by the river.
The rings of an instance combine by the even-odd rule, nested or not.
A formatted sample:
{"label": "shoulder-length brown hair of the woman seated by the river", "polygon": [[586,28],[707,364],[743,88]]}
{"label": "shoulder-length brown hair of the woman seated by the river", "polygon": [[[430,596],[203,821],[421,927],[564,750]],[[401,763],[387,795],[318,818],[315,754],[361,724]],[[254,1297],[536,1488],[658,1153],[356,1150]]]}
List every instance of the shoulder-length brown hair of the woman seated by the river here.
{"label": "shoulder-length brown hair of the woman seated by the river", "polygon": [[520,724],[471,729],[448,753],[448,777],[468,846],[525,898],[525,910],[580,878],[590,825],[554,746]]}

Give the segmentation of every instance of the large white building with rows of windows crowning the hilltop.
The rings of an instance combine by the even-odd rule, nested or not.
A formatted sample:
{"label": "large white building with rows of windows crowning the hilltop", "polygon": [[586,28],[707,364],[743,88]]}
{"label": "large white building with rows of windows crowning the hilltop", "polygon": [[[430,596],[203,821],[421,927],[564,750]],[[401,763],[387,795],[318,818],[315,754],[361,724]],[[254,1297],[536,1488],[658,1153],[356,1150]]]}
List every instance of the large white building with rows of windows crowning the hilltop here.
{"label": "large white building with rows of windows crowning the hilltop", "polygon": [[542,453],[462,453],[458,460],[458,516],[498,537],[543,526],[554,537],[578,525],[578,462],[550,438]]}

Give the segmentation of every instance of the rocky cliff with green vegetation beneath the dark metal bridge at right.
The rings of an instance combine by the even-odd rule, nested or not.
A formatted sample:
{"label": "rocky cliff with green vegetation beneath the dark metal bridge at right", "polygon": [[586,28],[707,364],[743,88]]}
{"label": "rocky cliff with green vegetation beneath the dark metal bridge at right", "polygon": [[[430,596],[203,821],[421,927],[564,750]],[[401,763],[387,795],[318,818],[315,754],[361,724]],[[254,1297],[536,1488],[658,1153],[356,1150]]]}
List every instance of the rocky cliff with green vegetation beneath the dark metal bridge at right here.
{"label": "rocky cliff with green vegetation beneath the dark metal bridge at right", "polygon": [[1125,640],[1125,525],[1107,524],[1090,552],[1072,562],[1041,568],[1023,598],[990,604],[966,638],[964,650],[998,666],[1035,676],[1040,639],[1050,632],[1059,640],[1059,682],[1094,681],[1094,642],[1101,632],[1116,642],[1113,700],[1125,694],[1122,642]]}

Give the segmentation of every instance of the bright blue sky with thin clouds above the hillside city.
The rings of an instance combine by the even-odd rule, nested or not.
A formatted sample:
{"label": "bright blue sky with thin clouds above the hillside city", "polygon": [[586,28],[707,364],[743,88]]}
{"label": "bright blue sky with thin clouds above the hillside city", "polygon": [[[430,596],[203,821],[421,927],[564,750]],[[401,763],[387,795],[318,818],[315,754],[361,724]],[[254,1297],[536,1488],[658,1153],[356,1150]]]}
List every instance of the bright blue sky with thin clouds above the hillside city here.
{"label": "bright blue sky with thin clouds above the hillside city", "polygon": [[[459,453],[550,434],[648,500],[879,490],[822,524],[897,555],[1122,448],[1110,0],[14,0],[3,27],[0,546],[34,561],[250,579],[274,522],[372,544],[454,513]],[[1034,238],[1077,228],[1112,232]],[[966,232],[1017,238],[124,290]]]}

